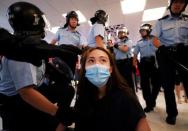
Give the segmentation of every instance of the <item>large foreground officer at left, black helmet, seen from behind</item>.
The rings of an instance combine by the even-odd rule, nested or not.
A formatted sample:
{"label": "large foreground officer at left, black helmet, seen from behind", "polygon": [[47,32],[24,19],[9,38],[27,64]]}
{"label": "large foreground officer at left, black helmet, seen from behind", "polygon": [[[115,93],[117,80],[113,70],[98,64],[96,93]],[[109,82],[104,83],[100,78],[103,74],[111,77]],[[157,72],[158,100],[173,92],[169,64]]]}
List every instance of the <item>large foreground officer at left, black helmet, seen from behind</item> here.
{"label": "large foreground officer at left, black helmet, seen from behind", "polygon": [[[17,42],[28,37],[44,37],[43,12],[35,5],[13,3],[8,8],[8,16]],[[30,63],[1,56],[0,67],[0,115],[4,130],[52,131],[63,127],[61,114],[56,113],[60,108],[38,89],[44,78],[43,66],[39,69]]]}

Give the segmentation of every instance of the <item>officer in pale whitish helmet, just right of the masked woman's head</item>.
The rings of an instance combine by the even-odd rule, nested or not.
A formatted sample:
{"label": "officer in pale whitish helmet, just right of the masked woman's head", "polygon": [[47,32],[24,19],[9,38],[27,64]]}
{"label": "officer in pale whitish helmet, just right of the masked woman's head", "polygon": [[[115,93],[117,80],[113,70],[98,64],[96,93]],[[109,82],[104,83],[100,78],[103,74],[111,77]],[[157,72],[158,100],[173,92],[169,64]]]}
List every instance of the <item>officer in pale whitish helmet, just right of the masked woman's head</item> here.
{"label": "officer in pale whitish helmet, just right of the masked woman's head", "polygon": [[119,72],[125,80],[127,80],[129,86],[134,91],[131,58],[131,48],[133,43],[132,40],[128,38],[128,34],[129,31],[126,27],[121,27],[117,30],[119,40],[114,43],[114,55]]}

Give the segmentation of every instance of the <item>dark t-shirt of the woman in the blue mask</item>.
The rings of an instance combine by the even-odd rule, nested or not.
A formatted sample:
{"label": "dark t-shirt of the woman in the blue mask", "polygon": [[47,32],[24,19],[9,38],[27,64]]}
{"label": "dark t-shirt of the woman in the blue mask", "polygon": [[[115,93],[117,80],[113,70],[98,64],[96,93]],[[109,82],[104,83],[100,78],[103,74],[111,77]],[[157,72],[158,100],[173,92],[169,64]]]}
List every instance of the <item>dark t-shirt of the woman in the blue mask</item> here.
{"label": "dark t-shirt of the woman in the blue mask", "polygon": [[77,118],[75,131],[135,131],[144,117],[138,100],[117,89],[98,100],[91,115]]}

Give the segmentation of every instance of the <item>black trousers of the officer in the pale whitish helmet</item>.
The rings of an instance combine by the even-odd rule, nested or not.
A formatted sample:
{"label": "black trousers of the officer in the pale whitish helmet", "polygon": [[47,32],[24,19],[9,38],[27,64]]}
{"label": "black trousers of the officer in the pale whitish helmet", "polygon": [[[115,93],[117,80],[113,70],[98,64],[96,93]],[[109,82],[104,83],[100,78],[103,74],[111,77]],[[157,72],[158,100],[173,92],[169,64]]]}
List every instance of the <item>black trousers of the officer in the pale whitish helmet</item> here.
{"label": "black trousers of the officer in the pale whitish helmet", "polygon": [[123,60],[116,60],[117,68],[120,72],[120,74],[124,77],[124,79],[127,81],[130,88],[134,89],[134,83],[133,83],[133,66],[132,66],[132,58],[127,58]]}

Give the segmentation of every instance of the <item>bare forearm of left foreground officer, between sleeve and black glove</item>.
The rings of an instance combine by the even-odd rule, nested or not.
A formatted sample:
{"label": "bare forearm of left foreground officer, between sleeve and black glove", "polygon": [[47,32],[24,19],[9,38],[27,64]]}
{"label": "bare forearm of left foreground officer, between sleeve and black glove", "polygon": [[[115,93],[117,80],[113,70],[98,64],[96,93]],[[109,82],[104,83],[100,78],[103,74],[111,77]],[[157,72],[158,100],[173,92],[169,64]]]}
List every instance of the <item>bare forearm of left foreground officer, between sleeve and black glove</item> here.
{"label": "bare forearm of left foreground officer, between sleeve and black glove", "polygon": [[35,107],[40,111],[55,116],[58,109],[57,105],[50,102],[45,96],[43,96],[40,92],[38,92],[34,88],[35,86],[31,85],[19,89],[18,92],[21,98],[31,106]]}

